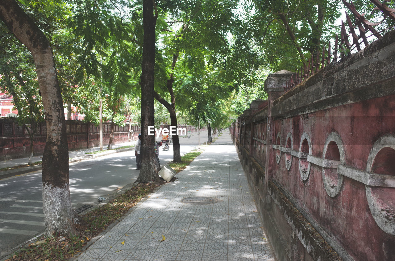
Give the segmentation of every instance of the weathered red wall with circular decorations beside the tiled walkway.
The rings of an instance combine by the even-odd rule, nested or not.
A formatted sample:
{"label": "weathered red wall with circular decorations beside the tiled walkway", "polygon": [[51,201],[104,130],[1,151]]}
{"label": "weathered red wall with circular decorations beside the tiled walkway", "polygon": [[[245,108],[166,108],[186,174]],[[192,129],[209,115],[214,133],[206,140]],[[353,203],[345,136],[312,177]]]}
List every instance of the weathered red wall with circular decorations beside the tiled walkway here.
{"label": "weathered red wall with circular decorations beside the tiled walkway", "polygon": [[394,260],[395,33],[284,93],[290,73],[232,127],[278,260]]}

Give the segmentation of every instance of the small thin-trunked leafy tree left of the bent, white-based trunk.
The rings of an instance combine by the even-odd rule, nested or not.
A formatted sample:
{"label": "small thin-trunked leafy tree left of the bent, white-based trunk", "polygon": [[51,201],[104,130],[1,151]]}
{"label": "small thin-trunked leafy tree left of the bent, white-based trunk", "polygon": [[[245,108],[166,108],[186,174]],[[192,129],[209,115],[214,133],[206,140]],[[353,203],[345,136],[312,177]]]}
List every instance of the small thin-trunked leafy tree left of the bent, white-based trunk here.
{"label": "small thin-trunked leafy tree left of the bent, white-based trunk", "polygon": [[16,122],[26,129],[30,138],[28,164],[32,164],[34,135],[38,124],[44,121],[41,96],[38,91],[37,75],[32,57],[23,48],[2,50],[0,58],[0,87],[12,95],[14,107],[18,110]]}

